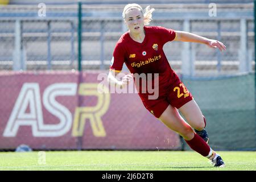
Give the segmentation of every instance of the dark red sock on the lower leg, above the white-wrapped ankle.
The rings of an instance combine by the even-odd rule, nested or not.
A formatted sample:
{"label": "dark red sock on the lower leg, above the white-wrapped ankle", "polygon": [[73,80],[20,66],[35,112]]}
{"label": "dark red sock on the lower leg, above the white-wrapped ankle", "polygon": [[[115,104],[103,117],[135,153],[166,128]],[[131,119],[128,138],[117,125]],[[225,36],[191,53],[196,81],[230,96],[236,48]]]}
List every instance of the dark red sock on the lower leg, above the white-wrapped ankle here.
{"label": "dark red sock on the lower leg, above the white-wrapped ankle", "polygon": [[210,147],[208,144],[199,136],[195,133],[194,138],[191,140],[185,140],[189,147],[191,147],[193,150],[198,152],[199,154],[203,156],[208,156],[210,152]]}

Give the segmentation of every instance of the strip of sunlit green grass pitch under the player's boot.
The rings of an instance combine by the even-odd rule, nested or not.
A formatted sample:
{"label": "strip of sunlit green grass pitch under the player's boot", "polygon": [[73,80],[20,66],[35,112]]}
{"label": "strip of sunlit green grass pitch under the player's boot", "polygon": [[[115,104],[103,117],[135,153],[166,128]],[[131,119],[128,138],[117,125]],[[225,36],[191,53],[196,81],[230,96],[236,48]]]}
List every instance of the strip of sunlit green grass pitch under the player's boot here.
{"label": "strip of sunlit green grass pitch under the player's boot", "polygon": [[255,151],[220,151],[218,154],[224,159],[225,168],[214,168],[208,159],[194,151],[0,152],[0,171],[256,171]]}

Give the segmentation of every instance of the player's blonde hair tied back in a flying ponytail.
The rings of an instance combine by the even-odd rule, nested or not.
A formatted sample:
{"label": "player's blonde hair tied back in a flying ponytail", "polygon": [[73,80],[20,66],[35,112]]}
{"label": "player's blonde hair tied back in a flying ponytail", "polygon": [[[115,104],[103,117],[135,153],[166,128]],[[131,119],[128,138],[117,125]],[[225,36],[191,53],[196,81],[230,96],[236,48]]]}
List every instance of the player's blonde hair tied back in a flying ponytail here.
{"label": "player's blonde hair tied back in a flying ponytail", "polygon": [[144,16],[144,25],[148,25],[150,24],[151,20],[152,20],[152,13],[153,11],[155,11],[154,8],[150,8],[150,6],[147,6],[144,10],[142,9],[141,6],[139,6],[138,4],[136,3],[132,3],[132,4],[128,4],[126,5],[124,8],[123,8],[123,19],[125,19],[125,14],[128,10],[131,10],[131,9],[138,9],[139,11],[141,11],[141,13],[143,14]]}

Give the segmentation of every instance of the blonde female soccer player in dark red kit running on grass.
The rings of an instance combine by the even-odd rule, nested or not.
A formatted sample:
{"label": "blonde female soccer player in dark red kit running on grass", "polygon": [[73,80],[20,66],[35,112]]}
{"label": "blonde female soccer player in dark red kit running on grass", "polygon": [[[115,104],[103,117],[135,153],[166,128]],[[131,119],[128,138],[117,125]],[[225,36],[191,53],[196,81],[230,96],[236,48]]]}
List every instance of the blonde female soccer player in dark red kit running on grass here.
{"label": "blonde female soccer player in dark red kit running on grass", "polygon": [[[208,145],[208,135],[204,129],[206,125],[204,115],[192,94],[170,67],[163,52],[163,46],[174,40],[202,43],[211,48],[218,48],[220,51],[225,50],[226,47],[217,40],[189,32],[175,31],[160,26],[146,26],[152,20],[153,11],[154,9],[150,9],[150,6],[143,10],[135,3],[128,4],[123,9],[122,16],[128,31],[115,45],[108,81],[110,84],[125,86],[134,79],[131,75],[124,76],[121,81],[116,78],[122,70],[123,63],[133,74],[158,73],[159,96],[154,100],[148,99],[150,95],[148,92],[140,92],[138,88],[142,85],[136,85],[135,82],[143,105],[169,129],[180,134],[193,150],[211,160],[214,167],[224,167],[225,164],[220,155]],[[147,90],[147,88],[144,89]]]}

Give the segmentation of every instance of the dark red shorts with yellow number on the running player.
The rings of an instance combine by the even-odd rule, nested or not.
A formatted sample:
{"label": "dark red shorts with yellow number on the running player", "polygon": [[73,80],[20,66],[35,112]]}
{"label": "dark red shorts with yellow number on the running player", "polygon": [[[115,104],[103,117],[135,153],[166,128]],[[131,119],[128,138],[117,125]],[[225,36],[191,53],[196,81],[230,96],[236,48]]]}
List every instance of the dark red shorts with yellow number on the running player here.
{"label": "dark red shorts with yellow number on the running player", "polygon": [[142,100],[146,109],[156,118],[160,117],[168,105],[179,109],[187,102],[193,100],[192,94],[179,79],[171,85],[169,92],[159,95],[156,100]]}

